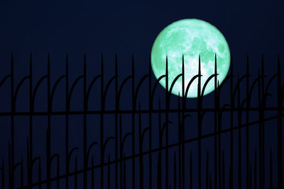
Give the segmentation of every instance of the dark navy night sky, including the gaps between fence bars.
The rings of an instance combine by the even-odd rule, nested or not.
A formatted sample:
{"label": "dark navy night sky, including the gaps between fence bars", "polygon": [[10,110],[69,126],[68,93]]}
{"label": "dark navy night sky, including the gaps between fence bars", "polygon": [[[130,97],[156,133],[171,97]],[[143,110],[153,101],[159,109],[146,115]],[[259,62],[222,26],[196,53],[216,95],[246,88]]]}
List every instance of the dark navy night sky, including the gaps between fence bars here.
{"label": "dark navy night sky, including the gaps between fence bars", "polygon": [[[258,68],[261,67],[261,55],[264,56],[265,74],[270,78],[276,73],[277,58],[280,55],[280,61],[284,62],[284,2],[283,1],[0,1],[0,78],[4,78],[10,73],[11,54],[14,56],[15,83],[18,83],[23,76],[29,74],[30,55],[33,55],[33,79],[40,79],[40,76],[46,74],[48,53],[50,54],[50,69],[51,83],[54,84],[59,76],[65,74],[65,57],[69,58],[69,74],[70,82],[75,81],[75,78],[83,73],[84,54],[87,57],[87,83],[100,71],[101,55],[104,57],[105,84],[107,79],[114,75],[114,58],[118,57],[119,62],[119,84],[122,79],[131,74],[131,56],[134,56],[136,79],[141,79],[144,74],[148,73],[148,60],[151,53],[151,48],[158,33],[170,23],[183,18],[197,18],[216,26],[226,38],[229,44],[231,55],[234,61],[234,74],[244,74],[246,71],[246,56],[249,55],[249,68],[251,78],[256,78]],[[282,64],[283,65],[283,64]],[[284,68],[284,67],[283,67]],[[153,76],[153,82],[155,77]],[[251,80],[252,81],[252,80]],[[250,81],[250,82],[251,82]],[[11,103],[9,103],[9,82],[4,84],[0,89],[1,112],[9,112]],[[138,81],[136,81],[137,83]],[[234,81],[235,82],[235,81]],[[43,86],[46,82],[43,83]],[[58,86],[57,95],[53,101],[54,110],[65,110],[65,81]],[[129,84],[129,92],[131,93]],[[228,86],[229,87],[229,86]],[[99,88],[99,84],[94,85],[94,88]],[[225,87],[226,88],[226,87]],[[244,86],[245,88],[245,86]],[[228,89],[228,88],[227,88]],[[81,91],[80,91],[81,90]],[[96,91],[95,89],[93,89]],[[141,101],[141,108],[148,108],[148,86],[144,84],[141,88],[141,93],[138,96],[138,101]],[[126,90],[127,91],[127,90]],[[95,93],[95,92],[94,92]],[[109,100],[107,100],[106,108],[114,108],[114,85],[109,88]],[[154,108],[158,108],[158,96],[161,96],[161,107],[164,108],[163,95],[165,90],[158,86],[157,96],[154,101]],[[256,93],[254,93],[256,95]],[[121,109],[131,108],[131,95],[127,92],[123,93],[124,99],[121,100]],[[100,93],[94,94],[89,100],[89,109],[99,108],[96,98],[100,97]],[[44,100],[42,100],[43,98]],[[7,100],[8,99],[8,100]],[[38,96],[35,98],[35,111],[45,111],[46,105],[46,88],[42,87],[38,91]],[[77,100],[80,99],[80,100]],[[214,93],[209,94],[204,98],[204,106],[212,105]],[[275,97],[270,98],[268,106],[275,105]],[[224,92],[222,102],[229,100],[229,91]],[[146,103],[145,103],[146,102]],[[171,105],[177,107],[178,97],[173,96]],[[195,107],[194,99],[187,101],[189,106]],[[29,110],[28,103],[28,81],[23,84],[23,88],[19,91],[16,103],[16,111],[25,112]],[[72,96],[72,110],[82,110],[82,83],[75,88],[74,96]],[[138,103],[137,103],[138,107]],[[273,115],[273,114],[271,114]],[[174,116],[174,115],[173,115]],[[193,116],[193,115],[192,115]],[[258,118],[253,117],[251,119]],[[58,115],[52,120],[52,152],[62,153],[62,173],[64,172],[64,132],[65,132],[65,116]],[[74,118],[73,118],[74,117]],[[91,118],[89,116],[88,124],[95,125],[99,121],[99,117]],[[172,118],[172,117],[171,117]],[[212,116],[208,118],[213,118]],[[245,118],[245,115],[244,115]],[[243,118],[243,120],[244,120]],[[21,155],[26,153],[26,138],[28,136],[28,118],[19,116],[15,118],[15,161],[21,160]],[[107,119],[107,116],[106,116]],[[106,120],[104,137],[109,137],[114,134],[114,129],[111,124],[114,118]],[[131,116],[126,115],[125,130],[131,130]],[[147,118],[145,118],[147,119]],[[173,122],[177,118],[172,118]],[[226,119],[226,118],[225,118]],[[128,121],[127,121],[128,120]],[[136,122],[138,115],[136,116]],[[255,120],[255,119],[254,119]],[[112,123],[111,123],[112,121]],[[153,122],[157,123],[158,118]],[[227,120],[229,122],[229,120]],[[11,119],[9,117],[1,117],[0,131],[0,158],[4,158],[7,163],[8,141],[11,139],[11,129],[9,125]],[[34,156],[45,156],[45,132],[46,118],[38,116],[34,118],[33,139],[34,139]],[[209,120],[204,121],[204,125],[210,125]],[[78,126],[79,125],[79,126]],[[79,147],[79,153],[82,152],[82,117],[70,116],[70,148]],[[147,125],[147,124],[146,124]],[[236,124],[237,125],[237,122]],[[269,124],[267,124],[269,125]],[[271,127],[275,122],[271,122]],[[143,126],[144,127],[144,126]],[[224,128],[229,127],[225,125]],[[273,136],[275,130],[269,132],[268,136]],[[175,132],[175,130],[170,129]],[[272,129],[271,129],[272,130]],[[187,128],[187,137],[195,136],[196,128]],[[202,132],[212,132],[212,126],[204,127]],[[258,130],[251,130],[251,149],[250,159],[254,159],[254,151],[257,145]],[[193,134],[192,134],[193,133]],[[194,134],[195,133],[195,134]],[[158,132],[153,131],[153,136]],[[244,132],[245,137],[246,132]],[[237,132],[235,133],[238,136]],[[236,137],[234,141],[236,140]],[[99,138],[99,130],[97,127],[89,127],[88,129],[88,144],[92,140]],[[170,142],[174,142],[177,137],[170,132]],[[224,136],[224,139],[229,137]],[[148,135],[146,134],[145,150],[148,149]],[[236,148],[238,147],[236,140]],[[275,150],[275,141],[268,140],[267,149],[272,147]],[[206,150],[210,147],[212,141],[208,139],[204,142],[202,149],[202,161],[206,159]],[[196,151],[196,143],[190,144],[192,151]],[[224,145],[224,146],[223,146]],[[245,146],[245,143],[244,143]],[[153,147],[156,147],[155,145]],[[229,144],[222,144],[224,150],[229,149]],[[137,145],[138,148],[138,145]],[[144,148],[144,147],[143,147]],[[131,140],[126,144],[126,156],[131,155]],[[96,151],[97,150],[97,151]],[[107,151],[113,151],[114,144],[109,144]],[[137,149],[136,149],[137,150]],[[94,153],[99,150],[95,149]],[[170,152],[170,171],[172,169],[173,151]],[[26,155],[24,155],[26,156]],[[187,154],[188,156],[188,154]],[[229,154],[225,155],[228,158],[226,165],[229,165]],[[210,156],[210,163],[213,163],[213,156]],[[157,159],[155,154],[153,157]],[[25,157],[24,157],[25,159]],[[111,155],[111,159],[114,156]],[[82,161],[82,156],[78,155],[78,160]],[[275,157],[276,160],[276,157]],[[43,159],[44,161],[44,159]],[[74,157],[72,157],[74,161]],[[106,155],[107,161],[107,155]],[[146,164],[148,159],[145,160]],[[197,156],[194,156],[194,161],[197,161]],[[204,161],[205,162],[205,161]],[[96,160],[99,163],[99,160]],[[154,167],[153,163],[153,167]],[[43,164],[44,166],[44,164]],[[82,166],[82,162],[79,163]],[[136,165],[138,166],[138,164]],[[202,168],[204,170],[204,164]],[[234,166],[237,167],[237,161]],[[277,165],[273,164],[276,168]],[[37,166],[35,166],[36,168]],[[131,161],[129,161],[129,170]],[[55,166],[53,167],[55,168]],[[113,168],[113,167],[112,167]],[[196,168],[196,167],[195,167]],[[210,170],[213,170],[210,167]],[[35,169],[36,170],[36,169]],[[74,168],[72,167],[72,170]],[[107,169],[105,169],[107,170]],[[276,171],[276,170],[275,170]],[[97,172],[99,174],[99,172]],[[204,172],[203,172],[204,173]],[[54,176],[55,173],[53,173]],[[147,171],[146,171],[147,174]],[[245,172],[244,172],[245,174]],[[268,174],[268,173],[267,173]],[[276,174],[276,172],[275,172]],[[137,174],[138,175],[138,174]],[[136,179],[138,181],[138,176]],[[17,172],[15,177],[19,176]],[[127,173],[131,178],[131,172]],[[268,175],[267,175],[268,176]],[[45,177],[45,173],[43,173]],[[196,176],[197,177],[197,176]],[[8,179],[8,178],[6,178]],[[34,180],[38,177],[35,174]],[[82,178],[80,178],[82,180]],[[96,178],[99,185],[99,178]],[[146,183],[148,183],[148,178]],[[234,176],[234,181],[237,181],[237,176]],[[72,180],[72,179],[71,179]],[[79,182],[82,182],[82,181]],[[170,176],[170,183],[173,177]],[[276,178],[275,180],[276,181]],[[15,181],[18,186],[19,180]],[[153,184],[156,184],[153,181]],[[226,183],[227,184],[227,183]],[[62,183],[62,186],[64,183]],[[71,183],[72,185],[72,183]],[[131,181],[127,184],[131,187]],[[138,185],[138,183],[136,183]],[[196,183],[194,183],[194,186]],[[245,185],[245,184],[244,184]],[[266,183],[268,186],[268,183]],[[186,185],[187,186],[187,185]],[[204,185],[202,184],[202,187]],[[64,187],[63,187],[64,188]],[[112,183],[111,188],[114,188]],[[155,187],[154,187],[155,188]],[[163,185],[165,188],[165,185]]]}

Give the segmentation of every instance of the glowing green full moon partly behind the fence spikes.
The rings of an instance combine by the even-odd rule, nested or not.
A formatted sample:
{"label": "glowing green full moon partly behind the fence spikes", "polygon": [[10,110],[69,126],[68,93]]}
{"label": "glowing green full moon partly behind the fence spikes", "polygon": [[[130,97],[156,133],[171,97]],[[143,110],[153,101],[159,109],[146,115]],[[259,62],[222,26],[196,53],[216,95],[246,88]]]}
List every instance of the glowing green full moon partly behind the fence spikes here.
{"label": "glowing green full moon partly behind the fence spikes", "polygon": [[[230,67],[230,50],[224,35],[214,25],[195,18],[175,21],[165,27],[155,39],[151,50],[151,66],[158,79],[165,74],[168,57],[168,89],[178,74],[182,73],[182,55],[185,65],[185,88],[198,74],[200,56],[201,89],[209,76],[214,74],[217,57],[217,79],[222,83]],[[165,78],[160,80],[165,88]],[[197,97],[198,79],[190,85],[187,98]],[[207,84],[204,95],[214,91],[214,78]],[[182,96],[182,77],[173,86],[173,94]]]}

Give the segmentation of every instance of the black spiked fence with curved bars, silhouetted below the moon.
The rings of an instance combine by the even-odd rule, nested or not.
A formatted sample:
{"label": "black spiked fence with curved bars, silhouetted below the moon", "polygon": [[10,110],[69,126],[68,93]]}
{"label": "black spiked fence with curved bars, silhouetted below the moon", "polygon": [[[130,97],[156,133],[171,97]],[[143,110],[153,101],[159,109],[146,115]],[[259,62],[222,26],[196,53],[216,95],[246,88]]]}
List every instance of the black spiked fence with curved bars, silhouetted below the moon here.
{"label": "black spiked fence with curved bars, silhouetted below the moon", "polygon": [[[11,110],[0,113],[1,117],[11,119],[11,125],[9,125],[11,139],[8,142],[8,154],[6,153],[7,156],[1,157],[1,188],[283,188],[282,116],[284,83],[281,78],[280,58],[278,57],[277,73],[268,77],[264,74],[262,57],[261,69],[258,69],[258,76],[253,80],[251,80],[249,73],[249,57],[247,59],[246,74],[241,76],[239,74],[234,75],[231,59],[229,74],[222,84],[219,84],[215,56],[214,74],[209,76],[203,88],[201,86],[200,64],[199,58],[198,74],[190,80],[189,84],[185,84],[184,60],[182,57],[182,73],[174,79],[172,84],[169,84],[168,59],[165,63],[165,75],[154,79],[151,71],[151,61],[149,61],[148,74],[142,76],[141,79],[136,79],[135,64],[132,57],[132,73],[121,79],[116,57],[115,74],[106,81],[104,59],[102,57],[101,73],[89,80],[87,79],[87,61],[84,56],[83,74],[70,82],[68,57],[66,56],[65,74],[51,85],[49,55],[47,74],[35,83],[33,83],[31,56],[30,73],[16,84],[12,55],[11,73],[4,76],[0,82],[0,88],[4,84],[11,85],[9,89],[6,89],[11,98],[9,100],[11,101]],[[160,100],[155,101],[155,91],[162,79],[165,79],[163,100],[157,97]],[[175,102],[178,104],[178,108],[172,108],[170,107],[171,98],[173,101],[171,90],[178,79],[182,80],[182,93],[177,98],[178,102]],[[121,84],[119,84],[119,81]],[[188,108],[187,101],[189,100],[186,96],[190,85],[195,81],[198,82],[198,96],[195,100],[197,108]],[[214,101],[212,101],[211,108],[204,108],[203,93],[209,81],[214,81]],[[20,95],[19,91],[25,82],[28,82],[29,111],[16,111],[16,99]],[[65,110],[62,111],[53,107],[56,90],[58,90],[60,84],[65,85]],[[79,84],[82,85],[83,108],[82,110],[72,110],[70,108],[72,93],[75,91],[75,86]],[[97,98],[97,103],[100,108],[99,110],[89,110],[89,98],[92,96],[92,88],[94,88],[95,84],[100,87],[97,89],[100,97]],[[127,84],[131,85],[128,89],[129,93],[131,93],[129,99],[131,109],[121,109],[120,102]],[[146,109],[142,109],[141,103],[138,102],[138,94],[141,93],[143,84],[146,84],[148,88],[148,91],[144,90],[148,95],[143,96],[143,98],[147,98],[148,104],[143,104],[148,106]],[[242,84],[245,84],[244,93],[241,93]],[[276,86],[275,94],[270,92],[270,86],[273,84]],[[226,85],[229,87],[228,98],[230,101],[222,105],[220,96],[223,86]],[[46,101],[47,110],[45,111],[35,110],[35,97],[40,86],[44,86],[47,90],[45,99],[38,97],[40,101]],[[111,87],[114,87],[113,91],[111,91],[114,95],[114,109],[106,108],[107,93],[111,90]],[[253,91],[256,93],[254,96],[252,95]],[[241,99],[242,95],[244,99]],[[268,107],[266,103],[269,96],[276,96],[277,98],[277,102],[272,107]],[[72,100],[75,101],[74,98]],[[253,100],[257,102],[256,107],[251,106]],[[157,104],[158,106],[155,108]],[[165,108],[161,108],[162,105],[165,105]],[[266,116],[267,112],[272,112],[274,115]],[[213,115],[211,123],[214,131],[202,133],[204,115],[208,113]],[[229,115],[229,127],[222,129],[222,115],[224,113]],[[245,117],[243,113],[245,113]],[[251,121],[251,113],[256,113],[258,119]],[[65,118],[65,125],[60,125],[60,127],[65,128],[65,135],[62,137],[65,150],[62,151],[62,154],[52,153],[51,127],[53,127],[53,124],[51,120],[55,115]],[[70,147],[70,116],[72,115],[82,116],[82,126],[80,125],[83,135],[82,154],[76,154],[80,147]],[[88,138],[87,120],[88,116],[92,115],[98,116],[96,127],[99,130],[99,137],[96,139]],[[105,122],[108,115],[114,118],[114,125],[111,126],[114,135],[105,137]],[[131,116],[128,120],[130,122],[129,132],[124,131],[124,115]],[[196,125],[190,125],[187,120],[195,115],[197,115]],[[29,133],[25,141],[26,154],[19,157],[21,161],[15,160],[19,159],[15,154],[15,119],[18,116],[23,116],[29,120]],[[37,125],[33,124],[33,119],[37,116],[47,118],[47,122],[45,122],[47,129],[45,136],[43,136],[45,137],[45,144],[40,144],[45,149],[45,156],[34,155],[33,127],[37,127]],[[177,122],[171,119],[173,116],[176,116],[176,119],[173,120]],[[243,121],[244,118],[245,121]],[[266,140],[270,140],[270,138],[265,140],[265,123],[271,120],[277,121],[277,135],[273,137],[276,139],[277,151],[274,154],[272,150],[267,151],[265,149]],[[142,122],[147,124],[143,125]],[[187,125],[197,129],[197,136],[187,136],[185,128]],[[251,127],[258,129],[256,134],[258,148],[253,153],[253,160],[251,160],[249,151],[249,129]],[[170,132],[170,129],[174,130],[173,128],[176,132]],[[243,129],[246,134],[243,134]],[[154,132],[154,130],[158,130],[158,132]],[[234,132],[236,132],[237,138],[234,137]],[[170,139],[173,134],[176,134],[176,141]],[[222,141],[222,134],[229,134],[229,139]],[[87,139],[89,139],[89,142]],[[146,139],[148,140],[146,141]],[[207,149],[206,153],[202,152],[204,151],[202,148],[204,139],[213,140],[212,151]],[[111,142],[114,147],[107,154],[107,145]],[[229,159],[225,158],[222,142],[229,146]],[[238,144],[237,149],[234,148],[236,142]],[[241,142],[245,142],[244,149]],[[196,153],[187,150],[187,144],[193,143],[197,147]],[[99,153],[92,153],[94,147],[98,148]],[[124,152],[124,150],[128,151],[128,153]],[[237,151],[237,156],[235,156],[234,151]],[[211,161],[209,154],[213,154],[213,164],[209,163]],[[81,159],[80,156],[82,156]],[[194,160],[193,156],[197,157],[197,161]],[[245,156],[245,158],[243,159],[242,156]],[[269,158],[266,156],[269,156]],[[273,157],[276,158],[276,161],[273,160]],[[95,159],[98,161],[97,164],[94,162]],[[203,159],[206,160],[203,161]],[[8,161],[8,165],[6,161]],[[82,166],[79,166],[79,164]],[[226,164],[229,166],[226,166]],[[237,168],[235,168],[234,164],[236,164]],[[275,169],[273,164],[277,165],[276,175],[273,175]],[[55,167],[52,165],[55,165]],[[72,184],[70,184],[71,181]]]}

